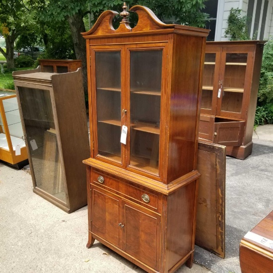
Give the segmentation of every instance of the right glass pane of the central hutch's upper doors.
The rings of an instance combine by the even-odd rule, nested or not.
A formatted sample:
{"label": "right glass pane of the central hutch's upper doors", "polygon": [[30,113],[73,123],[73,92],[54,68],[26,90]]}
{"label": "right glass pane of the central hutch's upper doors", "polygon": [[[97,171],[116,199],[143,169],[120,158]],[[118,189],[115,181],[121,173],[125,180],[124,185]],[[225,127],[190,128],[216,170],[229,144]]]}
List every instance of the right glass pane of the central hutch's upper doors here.
{"label": "right glass pane of the central hutch's upper doors", "polygon": [[131,52],[130,164],[158,173],[162,50]]}

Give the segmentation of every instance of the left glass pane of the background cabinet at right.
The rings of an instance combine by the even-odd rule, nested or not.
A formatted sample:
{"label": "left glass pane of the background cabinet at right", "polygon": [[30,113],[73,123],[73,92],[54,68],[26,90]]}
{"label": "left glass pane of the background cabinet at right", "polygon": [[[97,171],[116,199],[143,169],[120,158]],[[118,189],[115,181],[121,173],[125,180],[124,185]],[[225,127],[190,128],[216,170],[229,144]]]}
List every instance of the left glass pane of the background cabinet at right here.
{"label": "left glass pane of the background cabinet at right", "polygon": [[205,54],[201,108],[211,109],[216,53]]}

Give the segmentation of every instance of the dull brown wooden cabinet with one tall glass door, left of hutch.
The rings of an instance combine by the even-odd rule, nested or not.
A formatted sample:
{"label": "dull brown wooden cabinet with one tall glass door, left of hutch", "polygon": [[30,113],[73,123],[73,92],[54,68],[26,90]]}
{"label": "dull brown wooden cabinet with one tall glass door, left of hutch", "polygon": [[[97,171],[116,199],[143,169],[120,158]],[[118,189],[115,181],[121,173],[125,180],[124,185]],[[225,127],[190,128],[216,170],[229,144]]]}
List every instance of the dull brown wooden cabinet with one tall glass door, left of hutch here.
{"label": "dull brown wooden cabinet with one tall glass door, left of hutch", "polygon": [[70,73],[13,72],[33,192],[70,213],[87,204],[89,156],[81,68]]}

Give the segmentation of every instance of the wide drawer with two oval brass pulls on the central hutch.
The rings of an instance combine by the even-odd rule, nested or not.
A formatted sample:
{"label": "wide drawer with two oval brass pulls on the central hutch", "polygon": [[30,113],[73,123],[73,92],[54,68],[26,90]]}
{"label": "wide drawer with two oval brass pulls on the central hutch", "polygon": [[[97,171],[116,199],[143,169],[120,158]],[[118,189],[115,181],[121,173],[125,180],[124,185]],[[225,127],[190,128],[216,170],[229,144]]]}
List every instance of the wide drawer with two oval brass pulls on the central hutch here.
{"label": "wide drawer with two oval brass pulls on the central hutch", "polygon": [[[103,179],[101,179],[101,177]],[[158,196],[157,193],[147,190],[144,187],[136,187],[120,179],[110,177],[105,173],[99,173],[93,170],[91,170],[91,183],[139,205],[143,205],[155,211],[161,210],[161,195]]]}

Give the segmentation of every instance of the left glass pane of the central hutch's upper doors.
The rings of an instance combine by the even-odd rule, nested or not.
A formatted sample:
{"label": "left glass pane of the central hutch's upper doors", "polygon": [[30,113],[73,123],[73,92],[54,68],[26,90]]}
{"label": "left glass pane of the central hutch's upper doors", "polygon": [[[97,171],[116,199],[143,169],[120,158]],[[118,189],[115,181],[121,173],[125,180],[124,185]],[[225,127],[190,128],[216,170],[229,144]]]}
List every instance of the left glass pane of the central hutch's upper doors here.
{"label": "left glass pane of the central hutch's upper doors", "polygon": [[121,53],[96,52],[98,153],[121,162]]}

